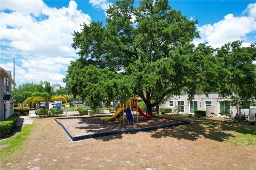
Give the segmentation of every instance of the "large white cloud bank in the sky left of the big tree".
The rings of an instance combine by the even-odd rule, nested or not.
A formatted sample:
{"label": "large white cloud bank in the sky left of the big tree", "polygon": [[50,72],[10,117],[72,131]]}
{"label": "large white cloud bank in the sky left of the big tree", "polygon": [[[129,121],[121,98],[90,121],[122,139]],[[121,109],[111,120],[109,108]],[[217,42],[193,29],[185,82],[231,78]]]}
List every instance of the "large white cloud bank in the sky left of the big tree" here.
{"label": "large white cloud bank in the sky left of the big tree", "polygon": [[[7,9],[12,12],[3,11]],[[8,46],[1,53],[21,62],[20,78],[63,85],[63,71],[74,60],[70,56],[77,57],[71,33],[79,31],[81,23],[90,24],[90,16],[77,10],[75,1],[62,8],[49,7],[42,0],[1,1],[1,10],[0,38]],[[10,63],[2,65],[8,68]]]}

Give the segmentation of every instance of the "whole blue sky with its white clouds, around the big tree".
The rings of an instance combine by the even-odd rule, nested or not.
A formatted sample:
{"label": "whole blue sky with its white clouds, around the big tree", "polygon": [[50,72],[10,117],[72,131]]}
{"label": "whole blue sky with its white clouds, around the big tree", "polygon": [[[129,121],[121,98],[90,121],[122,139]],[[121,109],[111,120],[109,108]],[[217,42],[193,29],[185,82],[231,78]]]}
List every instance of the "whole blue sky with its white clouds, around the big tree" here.
{"label": "whole blue sky with its white clouds, around the big tree", "polygon": [[[16,61],[16,82],[65,84],[62,79],[70,61],[78,57],[71,48],[73,30],[79,24],[105,21],[105,10],[114,1],[1,1],[0,66],[12,70]],[[169,1],[189,19],[197,19],[201,39],[213,47],[233,40],[244,46],[256,39],[255,1]],[[135,6],[139,1],[135,1]],[[10,12],[11,11],[11,12]],[[106,23],[106,22],[104,22]]]}

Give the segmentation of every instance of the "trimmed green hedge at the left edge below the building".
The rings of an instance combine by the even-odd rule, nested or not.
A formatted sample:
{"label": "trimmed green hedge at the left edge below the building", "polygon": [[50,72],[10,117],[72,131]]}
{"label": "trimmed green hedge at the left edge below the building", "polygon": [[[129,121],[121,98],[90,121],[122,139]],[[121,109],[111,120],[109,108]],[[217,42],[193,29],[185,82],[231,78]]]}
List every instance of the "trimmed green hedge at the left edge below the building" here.
{"label": "trimmed green hedge at the left edge below the building", "polygon": [[4,137],[9,134],[16,126],[17,116],[11,116],[6,118],[5,121],[0,122],[0,137]]}

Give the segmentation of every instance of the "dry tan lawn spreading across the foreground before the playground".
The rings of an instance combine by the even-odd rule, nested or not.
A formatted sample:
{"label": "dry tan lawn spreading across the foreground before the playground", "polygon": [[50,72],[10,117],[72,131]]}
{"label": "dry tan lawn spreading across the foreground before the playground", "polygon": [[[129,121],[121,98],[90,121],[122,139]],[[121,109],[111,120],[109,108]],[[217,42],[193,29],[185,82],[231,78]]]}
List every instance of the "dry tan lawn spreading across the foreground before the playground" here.
{"label": "dry tan lawn spreading across the foreground before the playground", "polygon": [[189,130],[193,123],[78,142],[71,142],[53,118],[35,123],[39,125],[29,135],[25,148],[2,169],[256,168],[255,146],[238,147],[195,134]]}

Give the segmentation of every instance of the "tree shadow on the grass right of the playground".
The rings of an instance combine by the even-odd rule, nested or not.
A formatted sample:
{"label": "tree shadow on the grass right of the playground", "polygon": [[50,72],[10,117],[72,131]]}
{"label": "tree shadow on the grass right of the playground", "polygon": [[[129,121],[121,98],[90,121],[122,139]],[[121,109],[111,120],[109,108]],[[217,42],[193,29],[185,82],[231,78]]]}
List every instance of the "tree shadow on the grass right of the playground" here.
{"label": "tree shadow on the grass right of the playground", "polygon": [[[172,116],[164,115],[165,118],[175,118]],[[207,118],[192,118],[183,117],[186,121],[190,121],[189,125],[177,126],[174,128],[166,128],[158,131],[151,131],[152,138],[166,138],[172,137],[177,139],[186,139],[196,141],[199,138],[211,139],[214,141],[223,142],[230,137],[236,137],[231,131],[253,134],[253,131],[249,126],[240,125],[236,123],[223,123],[223,121],[210,120]]]}

